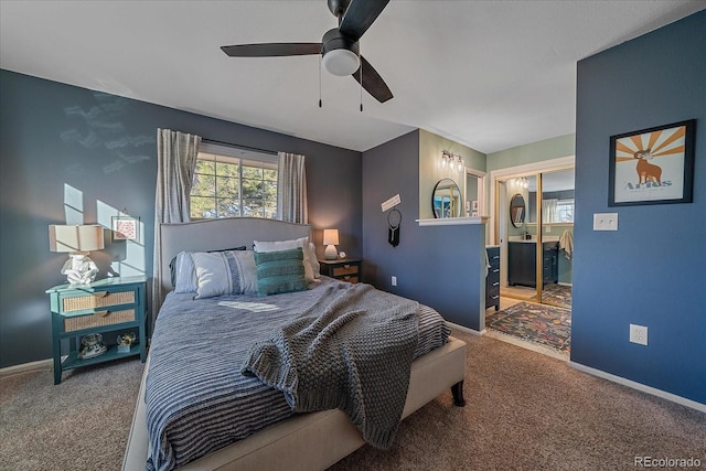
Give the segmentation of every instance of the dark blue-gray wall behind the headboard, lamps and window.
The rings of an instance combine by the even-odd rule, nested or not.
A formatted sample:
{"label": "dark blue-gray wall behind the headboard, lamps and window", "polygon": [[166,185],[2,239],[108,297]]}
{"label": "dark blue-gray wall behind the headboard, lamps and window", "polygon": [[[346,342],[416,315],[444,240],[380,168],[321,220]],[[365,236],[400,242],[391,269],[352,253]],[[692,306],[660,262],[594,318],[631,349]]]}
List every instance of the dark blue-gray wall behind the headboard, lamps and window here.
{"label": "dark blue-gray wall behind the headboard, lamps and window", "polygon": [[[0,103],[0,367],[51,357],[44,290],[65,282],[67,257],[49,251],[47,225],[67,213],[86,224],[105,208],[140,217],[130,269],[151,277],[157,128],[307,156],[310,223],[336,227],[339,248],[363,255],[360,152],[8,71]],[[125,243],[106,244],[92,253],[101,278],[127,257]]]}

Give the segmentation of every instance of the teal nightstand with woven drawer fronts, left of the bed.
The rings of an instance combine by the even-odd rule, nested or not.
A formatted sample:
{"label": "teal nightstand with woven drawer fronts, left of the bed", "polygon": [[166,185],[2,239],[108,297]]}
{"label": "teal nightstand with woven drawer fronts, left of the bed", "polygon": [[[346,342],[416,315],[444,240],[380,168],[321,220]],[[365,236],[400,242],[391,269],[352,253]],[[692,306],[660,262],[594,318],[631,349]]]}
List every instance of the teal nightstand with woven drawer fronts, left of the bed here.
{"label": "teal nightstand with woven drawer fronts, left of the bed", "polygon": [[[146,277],[106,278],[90,285],[60,285],[47,289],[46,293],[52,309],[54,384],[62,382],[62,372],[66,370],[137,355],[145,362]],[[136,331],[137,344],[125,352],[118,352],[117,345],[113,345],[98,356],[79,357],[83,336],[113,331]],[[62,339],[68,339],[68,355],[63,362]]]}

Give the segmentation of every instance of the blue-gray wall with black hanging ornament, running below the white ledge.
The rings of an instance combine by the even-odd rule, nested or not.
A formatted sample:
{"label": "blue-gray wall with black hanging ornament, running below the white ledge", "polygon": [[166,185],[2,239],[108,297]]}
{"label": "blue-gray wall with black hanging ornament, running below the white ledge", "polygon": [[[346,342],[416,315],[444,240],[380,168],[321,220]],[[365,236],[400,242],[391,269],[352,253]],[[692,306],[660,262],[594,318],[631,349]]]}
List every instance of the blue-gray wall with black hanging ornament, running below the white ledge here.
{"label": "blue-gray wall with black hanging ornament, running below the white ledge", "polygon": [[[480,272],[481,257],[485,260],[484,226],[420,227],[415,220],[420,201],[430,202],[430,191],[427,199],[419,196],[419,131],[363,152],[364,279],[480,331],[485,302],[485,279]],[[393,247],[381,203],[397,193],[402,225],[399,245]],[[397,277],[395,287],[392,276]]]}

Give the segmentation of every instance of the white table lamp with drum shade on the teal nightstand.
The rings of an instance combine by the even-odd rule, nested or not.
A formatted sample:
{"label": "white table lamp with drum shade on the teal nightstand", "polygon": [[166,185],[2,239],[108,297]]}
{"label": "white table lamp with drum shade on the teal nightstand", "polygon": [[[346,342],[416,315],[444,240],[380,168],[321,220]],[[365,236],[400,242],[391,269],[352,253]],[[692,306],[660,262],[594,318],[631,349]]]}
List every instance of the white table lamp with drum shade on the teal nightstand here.
{"label": "white table lamp with drum shade on the teal nightstand", "polygon": [[49,249],[68,253],[69,258],[62,267],[62,274],[72,285],[93,282],[98,267],[88,258],[88,253],[103,248],[101,226],[49,226]]}

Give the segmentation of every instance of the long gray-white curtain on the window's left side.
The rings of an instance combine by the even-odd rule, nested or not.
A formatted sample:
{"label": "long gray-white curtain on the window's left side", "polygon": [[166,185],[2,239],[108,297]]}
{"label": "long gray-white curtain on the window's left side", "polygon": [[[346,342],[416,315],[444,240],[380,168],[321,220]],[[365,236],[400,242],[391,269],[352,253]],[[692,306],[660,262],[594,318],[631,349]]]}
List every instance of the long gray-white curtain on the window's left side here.
{"label": "long gray-white curtain on the window's left side", "polygon": [[152,325],[162,306],[160,224],[189,221],[201,137],[169,129],[157,130],[157,194],[154,199],[154,266],[152,267]]}

